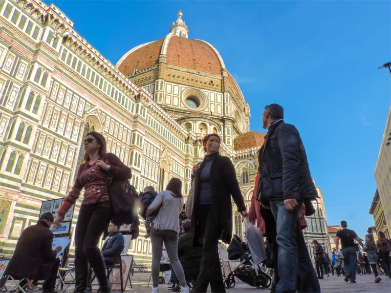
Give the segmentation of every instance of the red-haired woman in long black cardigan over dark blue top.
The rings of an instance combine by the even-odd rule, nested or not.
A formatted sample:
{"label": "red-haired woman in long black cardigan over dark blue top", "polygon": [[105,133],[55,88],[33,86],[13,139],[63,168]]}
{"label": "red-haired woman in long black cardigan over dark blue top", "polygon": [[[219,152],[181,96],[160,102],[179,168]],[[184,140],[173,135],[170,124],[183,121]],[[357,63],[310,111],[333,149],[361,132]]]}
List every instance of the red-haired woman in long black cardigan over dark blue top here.
{"label": "red-haired woman in long black cardigan over dark blue top", "polygon": [[221,239],[228,244],[232,238],[231,196],[243,217],[247,211],[235,167],[228,157],[218,153],[220,137],[212,133],[202,143],[206,156],[201,164],[193,167],[193,245],[202,246],[200,272],[193,292],[206,292],[209,284],[212,292],[225,292],[217,243]]}

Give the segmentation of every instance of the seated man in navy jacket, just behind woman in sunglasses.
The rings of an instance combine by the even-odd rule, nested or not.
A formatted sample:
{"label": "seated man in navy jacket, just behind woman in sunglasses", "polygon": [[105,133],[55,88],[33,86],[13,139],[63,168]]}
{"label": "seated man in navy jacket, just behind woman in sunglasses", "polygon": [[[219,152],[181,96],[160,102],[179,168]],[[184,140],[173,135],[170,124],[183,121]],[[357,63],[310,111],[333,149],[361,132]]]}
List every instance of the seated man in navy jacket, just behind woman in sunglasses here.
{"label": "seated man in navy jacket, just behind woman in sunglasses", "polygon": [[109,224],[109,238],[106,239],[102,247],[102,255],[107,266],[118,263],[118,256],[122,251],[125,243],[124,235],[119,230],[118,225],[110,222]]}

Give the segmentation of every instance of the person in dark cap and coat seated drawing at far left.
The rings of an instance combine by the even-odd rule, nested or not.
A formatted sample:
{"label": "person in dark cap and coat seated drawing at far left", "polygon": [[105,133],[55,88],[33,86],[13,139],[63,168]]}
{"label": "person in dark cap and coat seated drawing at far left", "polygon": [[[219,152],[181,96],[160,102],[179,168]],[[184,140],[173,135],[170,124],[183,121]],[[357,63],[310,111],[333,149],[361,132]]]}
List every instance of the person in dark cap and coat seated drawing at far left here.
{"label": "person in dark cap and coat seated drawing at far left", "polygon": [[[60,266],[60,259],[56,256],[62,247],[52,248],[54,235],[49,227],[53,221],[52,213],[45,212],[36,225],[22,231],[4,275],[19,280],[45,280],[43,292],[54,292]],[[26,284],[27,281],[23,280],[19,285],[24,287]]]}

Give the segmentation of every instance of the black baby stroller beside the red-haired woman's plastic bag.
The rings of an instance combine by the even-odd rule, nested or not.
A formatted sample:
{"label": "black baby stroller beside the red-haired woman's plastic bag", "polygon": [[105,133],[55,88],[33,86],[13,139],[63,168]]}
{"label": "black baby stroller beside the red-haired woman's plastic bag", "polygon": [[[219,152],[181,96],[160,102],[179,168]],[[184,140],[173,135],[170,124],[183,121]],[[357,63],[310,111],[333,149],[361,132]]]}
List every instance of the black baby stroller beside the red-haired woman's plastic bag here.
{"label": "black baby stroller beside the red-haired woman's plastic bag", "polygon": [[253,262],[247,243],[241,241],[237,235],[232,237],[227,252],[229,260],[240,259],[240,264],[224,279],[225,288],[235,287],[235,277],[238,277],[250,286],[257,287],[257,289],[268,288],[270,286],[273,270],[262,267],[261,264],[256,265]]}

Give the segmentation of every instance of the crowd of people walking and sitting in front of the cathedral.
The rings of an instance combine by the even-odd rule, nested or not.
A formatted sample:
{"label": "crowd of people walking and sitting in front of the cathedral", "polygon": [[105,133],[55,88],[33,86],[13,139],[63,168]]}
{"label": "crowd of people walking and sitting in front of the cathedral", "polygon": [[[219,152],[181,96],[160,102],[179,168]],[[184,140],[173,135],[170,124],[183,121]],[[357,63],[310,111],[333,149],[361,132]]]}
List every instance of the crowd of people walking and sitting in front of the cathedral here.
{"label": "crowd of people walking and sitting in front of the cathedral", "polygon": [[[315,272],[302,230],[307,226],[304,216],[315,212],[311,201],[318,197],[318,193],[303,142],[295,126],[283,121],[281,105],[264,107],[262,125],[268,132],[258,152],[259,168],[249,213],[235,167],[228,157],[219,153],[221,140],[217,133],[204,137],[205,156],[193,167],[194,202],[189,219],[185,213],[181,179],[171,178],[165,190],[159,193],[152,186],[145,187],[140,193],[139,214],[144,219],[145,237],[151,238],[152,245],[152,293],[159,292],[163,249],[167,251],[172,270],[172,291],[204,293],[210,286],[211,292],[226,292],[218,242],[231,242],[232,200],[243,219],[248,217],[267,237],[275,272],[271,292],[320,292],[319,279],[330,273],[344,275],[345,281],[355,283],[357,272],[368,272],[366,263],[375,282],[380,282],[380,272],[391,278],[390,241],[384,233],[379,232],[376,242],[371,234],[366,235],[364,244],[353,230],[347,228],[346,221],[341,221],[331,257],[317,240],[312,242]],[[131,170],[116,155],[107,152],[102,134],[89,132],[83,143],[84,162],[78,168],[74,186],[56,218],[51,213],[44,213],[37,225],[22,232],[5,272],[18,279],[46,280],[44,292],[54,291],[60,263],[56,254],[62,249],[52,249],[53,233],[49,228],[61,225],[65,213],[75,204],[83,188],[75,230],[74,292],[91,291],[92,270],[99,281],[99,292],[110,292],[105,266],[115,264],[116,257],[124,249],[124,236],[119,231],[122,223],[110,221],[113,214],[108,186],[116,180],[130,179]],[[109,235],[100,250],[98,243],[105,230]],[[30,241],[35,245],[29,245]],[[361,245],[364,254],[357,253],[354,241]],[[20,266],[22,258],[31,259],[31,262]],[[21,286],[24,285],[21,282]]]}

